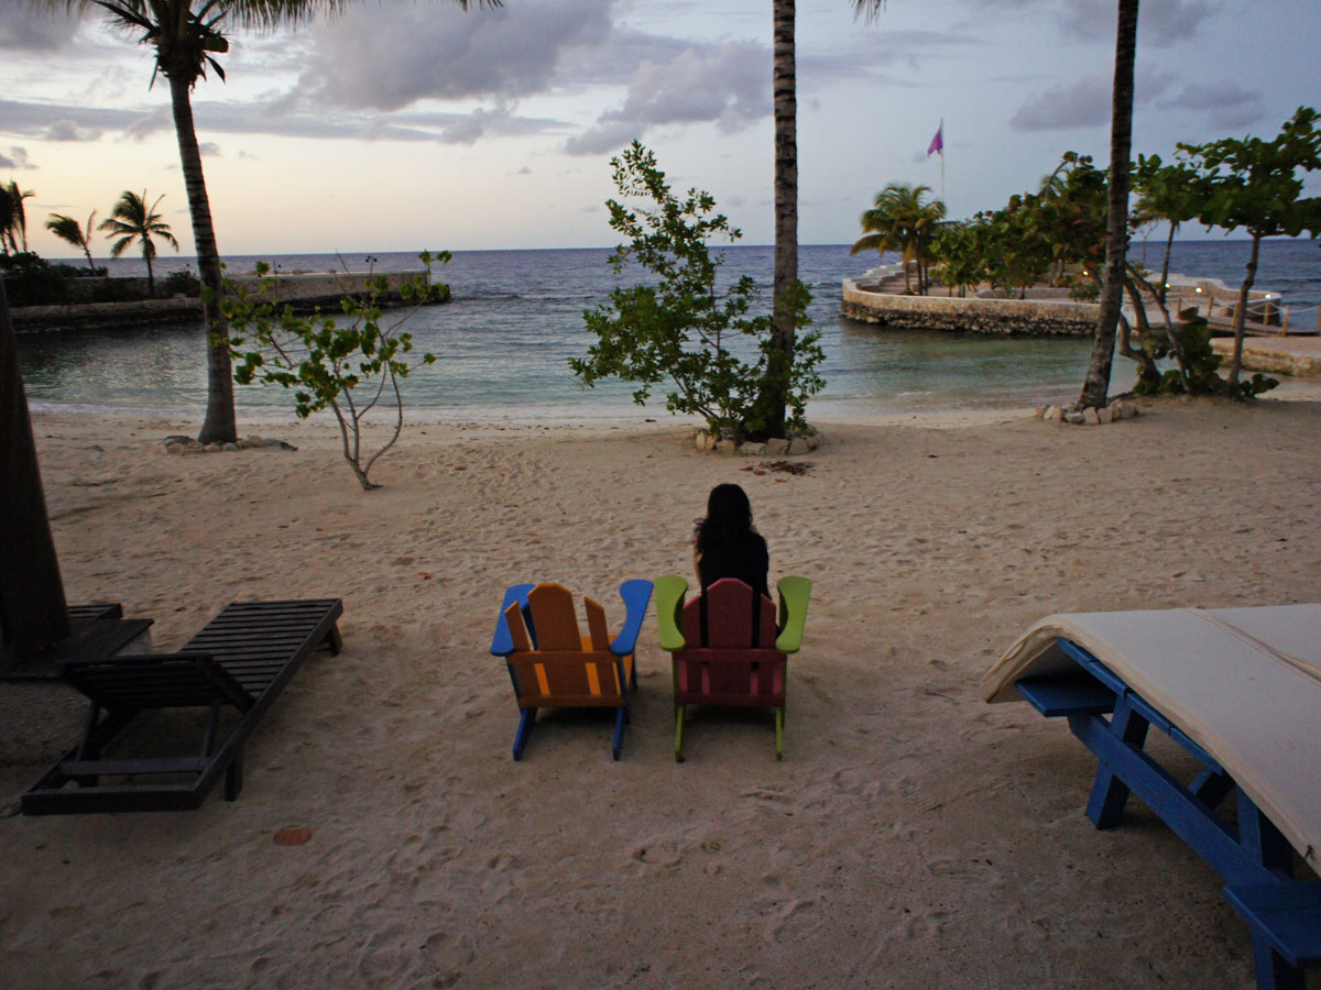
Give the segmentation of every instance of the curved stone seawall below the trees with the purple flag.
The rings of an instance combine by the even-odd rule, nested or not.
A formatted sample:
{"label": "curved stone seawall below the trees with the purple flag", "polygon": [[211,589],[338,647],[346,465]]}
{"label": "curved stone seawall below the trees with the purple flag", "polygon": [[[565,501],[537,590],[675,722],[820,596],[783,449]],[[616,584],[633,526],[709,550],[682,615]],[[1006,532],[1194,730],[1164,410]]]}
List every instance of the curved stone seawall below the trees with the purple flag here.
{"label": "curved stone seawall below the trees with the purple flag", "polygon": [[983,300],[950,296],[896,296],[864,292],[844,280],[840,313],[849,319],[902,330],[954,330],[975,334],[1090,337],[1096,330],[1095,302],[1057,300]]}

